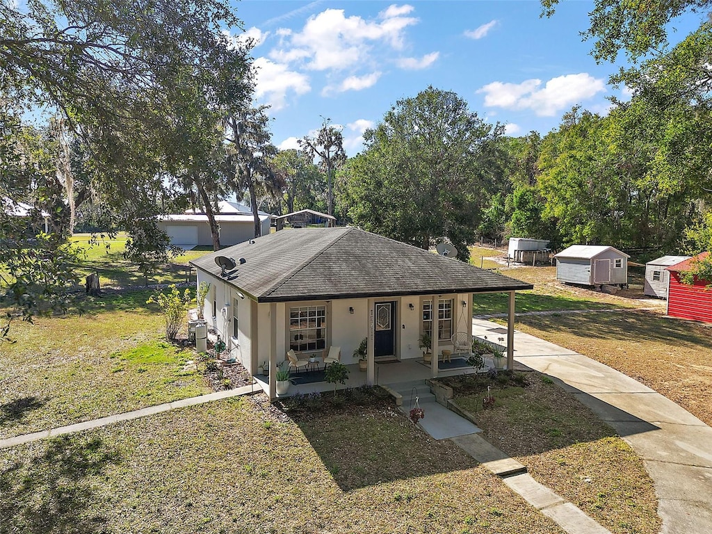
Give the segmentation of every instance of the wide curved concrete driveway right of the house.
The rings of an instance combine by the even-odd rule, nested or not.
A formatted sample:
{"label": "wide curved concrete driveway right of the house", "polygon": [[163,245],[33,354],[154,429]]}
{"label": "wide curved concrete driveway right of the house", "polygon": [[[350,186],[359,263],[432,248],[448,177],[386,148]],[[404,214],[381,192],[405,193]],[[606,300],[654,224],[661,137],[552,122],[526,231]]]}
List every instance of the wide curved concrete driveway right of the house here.
{"label": "wide curved concrete driveway right of the house", "polygon": [[[486,320],[472,324],[478,336],[502,329]],[[712,533],[709,426],[653,389],[572,350],[516,331],[514,347],[517,362],[557,379],[644,460],[659,499],[661,533]]]}

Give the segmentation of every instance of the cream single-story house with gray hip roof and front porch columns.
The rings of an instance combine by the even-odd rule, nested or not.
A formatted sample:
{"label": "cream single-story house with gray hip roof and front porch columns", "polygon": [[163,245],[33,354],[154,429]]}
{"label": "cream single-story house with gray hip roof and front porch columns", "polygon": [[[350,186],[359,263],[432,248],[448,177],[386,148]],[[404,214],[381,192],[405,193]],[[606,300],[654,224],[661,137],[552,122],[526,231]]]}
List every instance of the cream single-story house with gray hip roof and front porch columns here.
{"label": "cream single-story house with gray hip roof and front porch columns", "polygon": [[[225,261],[224,257],[234,260]],[[221,267],[217,262],[225,267]],[[253,375],[273,370],[290,349],[300,358],[341,348],[341,362],[367,339],[367,383],[379,360],[421,358],[471,339],[472,294],[509,294],[508,366],[513,365],[514,293],[533,286],[353,227],[299,229],[262,236],[191,261],[197,283],[208,282],[204,317],[231,357]],[[436,333],[437,335],[432,335]],[[431,375],[438,374],[431,358]]]}

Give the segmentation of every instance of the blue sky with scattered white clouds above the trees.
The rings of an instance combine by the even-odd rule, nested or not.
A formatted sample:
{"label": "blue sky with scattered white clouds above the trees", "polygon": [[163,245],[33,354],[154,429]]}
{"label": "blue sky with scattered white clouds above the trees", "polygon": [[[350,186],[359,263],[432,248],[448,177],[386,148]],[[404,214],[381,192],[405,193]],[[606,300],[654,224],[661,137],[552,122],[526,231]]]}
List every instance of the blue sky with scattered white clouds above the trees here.
{"label": "blue sky with scattered white clouds above the trees", "polygon": [[[397,100],[428,85],[458,93],[470,110],[507,125],[509,135],[545,134],[564,112],[582,105],[605,113],[619,66],[597,65],[588,28],[589,1],[564,1],[541,19],[538,1],[282,1],[235,4],[256,39],[256,101],[271,105],[280,148],[316,130],[341,125],[348,155],[361,134]],[[671,40],[698,26],[676,21]]]}

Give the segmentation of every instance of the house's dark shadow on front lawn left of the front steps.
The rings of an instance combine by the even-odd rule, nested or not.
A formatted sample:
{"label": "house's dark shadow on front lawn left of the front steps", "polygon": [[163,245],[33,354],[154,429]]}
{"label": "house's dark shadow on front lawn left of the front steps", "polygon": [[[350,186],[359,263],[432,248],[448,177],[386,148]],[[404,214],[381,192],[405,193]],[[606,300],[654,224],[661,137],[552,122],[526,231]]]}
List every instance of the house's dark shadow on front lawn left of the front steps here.
{"label": "house's dark shadow on front lawn left of the front steps", "polygon": [[286,412],[343,491],[477,465],[451,441],[435,441],[414,426],[379,387],[340,390],[336,400],[332,393],[312,394],[289,404]]}

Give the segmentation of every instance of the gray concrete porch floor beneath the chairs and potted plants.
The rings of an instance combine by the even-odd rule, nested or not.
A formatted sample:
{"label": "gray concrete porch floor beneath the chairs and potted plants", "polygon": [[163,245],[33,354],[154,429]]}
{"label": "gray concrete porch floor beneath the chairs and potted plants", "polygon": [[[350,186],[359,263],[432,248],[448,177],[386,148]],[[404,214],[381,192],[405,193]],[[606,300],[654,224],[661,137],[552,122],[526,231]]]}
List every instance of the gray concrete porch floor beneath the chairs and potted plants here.
{"label": "gray concrete porch floor beneath the chairs and potted plants", "polygon": [[[453,355],[456,357],[456,355]],[[377,363],[376,364],[376,385],[392,385],[401,382],[414,382],[417,380],[425,381],[431,378],[430,367],[422,365],[420,358],[411,360],[401,360],[393,363]],[[337,389],[347,389],[350,387],[361,387],[366,384],[366,372],[360,371],[358,364],[346,366],[349,370],[349,378],[345,385],[337,384]],[[486,371],[488,367],[493,367],[493,362],[487,360],[485,362]],[[470,375],[476,372],[473,367],[464,367],[450,370],[439,370],[439,377],[453,377],[456,375]],[[293,373],[298,376],[298,373]],[[265,375],[254,375],[257,384],[264,390],[269,392],[268,377]],[[289,392],[281,397],[291,397],[298,394],[309,394],[315,392],[329,392],[334,390],[334,385],[328,382],[312,382],[311,384],[291,384]]]}

